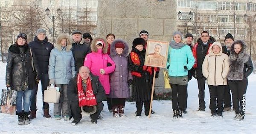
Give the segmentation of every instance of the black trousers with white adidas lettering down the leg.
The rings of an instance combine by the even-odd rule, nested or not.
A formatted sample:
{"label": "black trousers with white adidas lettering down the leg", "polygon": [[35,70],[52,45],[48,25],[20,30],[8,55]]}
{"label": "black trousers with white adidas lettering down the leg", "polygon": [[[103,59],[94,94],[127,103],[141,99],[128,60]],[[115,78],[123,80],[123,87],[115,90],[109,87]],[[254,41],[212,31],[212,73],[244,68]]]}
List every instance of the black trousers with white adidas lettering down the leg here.
{"label": "black trousers with white adidas lettering down the leg", "polygon": [[244,114],[246,106],[246,89],[248,80],[245,81],[228,81],[228,85],[232,92],[233,107],[236,109],[236,114]]}

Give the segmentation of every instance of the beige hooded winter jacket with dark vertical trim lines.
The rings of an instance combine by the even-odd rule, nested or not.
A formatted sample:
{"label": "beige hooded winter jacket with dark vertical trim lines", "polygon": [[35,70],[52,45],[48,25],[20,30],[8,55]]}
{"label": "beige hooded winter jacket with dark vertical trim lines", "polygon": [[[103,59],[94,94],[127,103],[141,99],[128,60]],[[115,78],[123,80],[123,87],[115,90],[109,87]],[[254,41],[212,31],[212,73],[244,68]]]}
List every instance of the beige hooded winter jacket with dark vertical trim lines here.
{"label": "beige hooded winter jacket with dark vertical trim lines", "polygon": [[[218,45],[221,48],[218,54],[214,54],[212,51],[214,45]],[[229,71],[228,59],[227,54],[222,53],[221,44],[219,42],[213,42],[209,48],[209,54],[205,56],[202,65],[203,75],[207,78],[208,85],[227,85],[227,73]]]}

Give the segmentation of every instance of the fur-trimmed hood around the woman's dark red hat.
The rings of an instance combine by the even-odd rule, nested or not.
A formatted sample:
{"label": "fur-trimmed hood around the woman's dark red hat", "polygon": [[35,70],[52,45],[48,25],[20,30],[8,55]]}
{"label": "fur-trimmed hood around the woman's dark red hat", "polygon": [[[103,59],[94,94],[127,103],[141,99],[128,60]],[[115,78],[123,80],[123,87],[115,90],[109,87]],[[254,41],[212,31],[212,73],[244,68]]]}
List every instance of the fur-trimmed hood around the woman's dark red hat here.
{"label": "fur-trimmed hood around the woman's dark red hat", "polygon": [[116,45],[117,42],[122,42],[122,44],[124,44],[125,48],[124,48],[124,50],[123,50],[123,52],[122,52],[121,55],[127,57],[127,55],[128,55],[128,50],[129,50],[129,46],[128,46],[128,43],[125,42],[125,41],[122,40],[122,39],[115,39],[115,40],[112,42],[111,47],[110,47],[110,54],[111,54],[111,56],[116,56],[116,55],[117,55],[116,49],[115,49],[115,45]]}

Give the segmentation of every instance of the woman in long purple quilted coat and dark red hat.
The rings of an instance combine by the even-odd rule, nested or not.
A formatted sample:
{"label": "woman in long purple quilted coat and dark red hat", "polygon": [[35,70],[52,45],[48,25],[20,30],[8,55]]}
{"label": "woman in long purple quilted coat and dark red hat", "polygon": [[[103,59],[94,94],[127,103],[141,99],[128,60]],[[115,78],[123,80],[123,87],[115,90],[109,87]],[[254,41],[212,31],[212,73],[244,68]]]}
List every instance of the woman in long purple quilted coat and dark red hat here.
{"label": "woman in long purple quilted coat and dark red hat", "polygon": [[115,62],[115,71],[110,76],[110,94],[113,117],[125,117],[125,99],[130,97],[129,84],[132,83],[131,73],[128,71],[128,44],[117,39],[111,44],[111,59]]}

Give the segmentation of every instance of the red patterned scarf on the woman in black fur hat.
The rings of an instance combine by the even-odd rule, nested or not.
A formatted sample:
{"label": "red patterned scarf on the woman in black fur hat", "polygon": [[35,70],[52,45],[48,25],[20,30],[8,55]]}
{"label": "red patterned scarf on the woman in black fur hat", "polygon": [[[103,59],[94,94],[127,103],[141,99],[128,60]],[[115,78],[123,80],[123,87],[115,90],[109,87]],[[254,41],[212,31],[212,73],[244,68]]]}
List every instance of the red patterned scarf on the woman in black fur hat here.
{"label": "red patterned scarf on the woman in black fur hat", "polygon": [[[137,53],[131,52],[131,61],[135,64],[135,65],[140,65],[140,58],[138,56]],[[158,67],[154,67],[155,71],[159,71]],[[143,71],[147,71],[150,75],[153,74],[152,72],[152,67],[148,67],[148,66],[143,66]],[[141,77],[141,74],[138,72],[134,72],[131,71],[131,75],[135,75],[137,77]]]}

